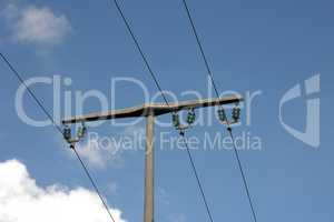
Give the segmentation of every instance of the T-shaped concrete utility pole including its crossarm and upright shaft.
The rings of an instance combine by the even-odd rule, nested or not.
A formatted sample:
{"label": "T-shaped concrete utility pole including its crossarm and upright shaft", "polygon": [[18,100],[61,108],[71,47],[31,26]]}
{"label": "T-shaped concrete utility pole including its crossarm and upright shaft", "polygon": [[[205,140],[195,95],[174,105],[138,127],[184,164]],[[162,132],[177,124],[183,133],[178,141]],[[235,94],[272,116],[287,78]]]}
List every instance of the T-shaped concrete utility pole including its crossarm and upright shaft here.
{"label": "T-shaped concrete utility pole including its crossarm and upright shaft", "polygon": [[140,107],[134,107],[120,110],[110,110],[106,113],[90,113],[80,117],[73,117],[62,120],[63,124],[82,123],[109,119],[121,119],[121,118],[139,118],[145,117],[146,123],[146,154],[145,154],[145,204],[144,204],[144,222],[154,222],[154,124],[155,117],[178,112],[187,109],[207,108],[214,105],[223,105],[230,103],[238,103],[243,99],[238,97],[225,97],[220,99],[205,99],[184,101],[177,103],[148,103]]}

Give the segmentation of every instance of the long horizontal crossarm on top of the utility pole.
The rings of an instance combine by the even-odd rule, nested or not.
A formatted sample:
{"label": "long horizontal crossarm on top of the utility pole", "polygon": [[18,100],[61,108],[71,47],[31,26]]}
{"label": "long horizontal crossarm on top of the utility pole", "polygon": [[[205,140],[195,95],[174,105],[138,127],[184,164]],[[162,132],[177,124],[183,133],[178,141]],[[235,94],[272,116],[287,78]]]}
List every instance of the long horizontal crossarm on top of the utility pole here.
{"label": "long horizontal crossarm on top of the utility pole", "polygon": [[177,112],[185,109],[198,109],[198,108],[207,108],[214,105],[230,104],[230,103],[240,102],[243,100],[244,99],[240,97],[229,95],[219,99],[203,99],[203,100],[189,100],[183,102],[175,102],[175,103],[169,103],[168,105],[165,103],[146,103],[132,108],[110,110],[105,113],[96,112],[96,113],[89,113],[85,115],[65,119],[62,120],[62,124],[92,122],[92,121],[121,119],[121,118],[138,118],[138,117],[147,117],[149,114],[157,117],[170,112]]}

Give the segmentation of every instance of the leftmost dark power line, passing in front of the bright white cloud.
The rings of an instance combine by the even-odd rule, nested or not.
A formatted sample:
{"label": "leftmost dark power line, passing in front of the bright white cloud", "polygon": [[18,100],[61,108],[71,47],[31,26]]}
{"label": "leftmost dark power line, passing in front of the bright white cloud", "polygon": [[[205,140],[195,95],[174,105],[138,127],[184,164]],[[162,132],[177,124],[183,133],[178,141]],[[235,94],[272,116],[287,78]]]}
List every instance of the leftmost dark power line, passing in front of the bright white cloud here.
{"label": "leftmost dark power line, passing in front of the bright white cloud", "polygon": [[[53,123],[56,130],[58,130],[58,132],[62,135],[62,130],[61,128],[56,123],[56,121],[53,120],[52,115],[48,112],[48,110],[43,107],[42,102],[37,98],[37,95],[33,93],[33,91],[26,84],[23,78],[21,77],[21,74],[17,71],[17,69],[12,65],[12,63],[9,62],[9,60],[7,59],[7,57],[4,57],[3,53],[0,52],[0,57],[2,58],[2,60],[4,61],[4,63],[9,67],[9,69],[12,71],[12,73],[17,77],[17,79],[21,82],[21,84],[24,85],[24,88],[28,90],[29,94],[31,95],[31,98],[37,102],[38,107],[43,111],[43,113],[48,117],[48,119]],[[106,211],[108,212],[108,215],[110,216],[112,222],[116,222],[112,214],[109,211],[109,208],[107,205],[107,203],[105,202],[101,192],[99,191],[98,186],[96,185],[96,182],[94,181],[91,174],[88,171],[88,168],[86,167],[86,164],[84,163],[82,159],[80,158],[79,153],[77,152],[77,150],[75,149],[75,147],[71,147],[73,152],[76,153],[76,157],[78,158],[86,175],[88,176],[90,183],[92,184],[96,193],[98,194],[99,199],[101,200]]]}

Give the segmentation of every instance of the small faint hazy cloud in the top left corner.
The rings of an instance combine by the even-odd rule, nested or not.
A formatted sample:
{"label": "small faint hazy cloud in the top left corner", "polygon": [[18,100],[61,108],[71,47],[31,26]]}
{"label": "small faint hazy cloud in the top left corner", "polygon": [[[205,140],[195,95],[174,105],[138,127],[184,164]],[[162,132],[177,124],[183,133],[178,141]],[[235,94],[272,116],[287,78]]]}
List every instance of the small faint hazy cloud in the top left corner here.
{"label": "small faint hazy cloud in the top left corner", "polygon": [[55,46],[62,42],[71,31],[65,14],[56,14],[48,7],[7,6],[2,13],[12,32],[12,39],[20,43]]}

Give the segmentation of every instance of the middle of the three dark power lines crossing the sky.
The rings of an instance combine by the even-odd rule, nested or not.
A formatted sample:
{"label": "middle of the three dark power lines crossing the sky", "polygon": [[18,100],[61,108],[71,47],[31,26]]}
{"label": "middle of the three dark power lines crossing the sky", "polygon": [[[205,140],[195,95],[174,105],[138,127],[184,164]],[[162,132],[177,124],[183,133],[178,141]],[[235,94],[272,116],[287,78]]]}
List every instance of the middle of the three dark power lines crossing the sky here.
{"label": "middle of the three dark power lines crossing the sky", "polygon": [[[111,0],[110,0],[110,1],[111,1]],[[163,98],[164,98],[166,104],[169,105],[169,103],[168,103],[168,101],[167,101],[167,99],[166,99],[166,97],[165,97],[165,94],[164,94],[164,91],[163,91],[163,89],[161,89],[161,87],[160,87],[160,84],[159,84],[159,82],[158,82],[158,79],[156,78],[156,74],[154,73],[153,69],[150,68],[149,62],[148,62],[148,60],[147,60],[145,53],[143,52],[141,47],[140,47],[140,44],[139,44],[139,42],[138,42],[138,40],[137,40],[137,38],[136,38],[136,36],[135,36],[135,33],[134,33],[131,27],[130,27],[130,24],[129,24],[127,18],[125,17],[125,14],[124,14],[124,12],[122,12],[122,9],[120,8],[120,6],[119,6],[119,3],[118,3],[117,0],[114,0],[114,3],[115,3],[115,6],[116,6],[116,8],[117,8],[117,10],[118,10],[118,12],[119,12],[119,14],[120,14],[120,17],[121,17],[124,23],[126,24],[126,28],[127,28],[129,34],[131,36],[131,38],[132,38],[132,40],[134,40],[134,42],[135,42],[135,44],[136,44],[136,47],[137,47],[137,49],[138,49],[138,51],[139,51],[139,53],[140,53],[143,60],[144,60],[145,64],[146,64],[146,67],[147,67],[147,69],[148,69],[148,71],[149,71],[151,78],[154,79],[154,81],[155,81],[155,83],[156,83],[156,87],[157,87],[158,90],[160,91],[160,93],[161,93],[161,95],[163,95]],[[186,142],[186,141],[185,141],[185,144],[187,145],[187,142]],[[188,147],[188,145],[187,145],[187,147]],[[206,201],[206,196],[205,196],[205,193],[204,193],[204,190],[203,190],[203,186],[202,186],[202,183],[200,183],[198,173],[197,173],[197,170],[196,170],[196,168],[195,168],[195,162],[193,161],[191,153],[189,152],[189,149],[187,149],[187,151],[188,151],[188,157],[189,157],[189,161],[190,161],[190,164],[191,164],[191,169],[193,169],[193,171],[194,171],[194,174],[196,175],[197,184],[198,184],[198,188],[199,188],[199,191],[200,191],[203,201],[204,201],[204,203],[205,203],[205,208],[206,208],[207,214],[208,214],[208,216],[209,216],[209,220],[210,220],[212,222],[214,222],[214,221],[213,221],[212,213],[210,213],[210,210],[209,210],[209,206],[208,206],[207,201]]]}

